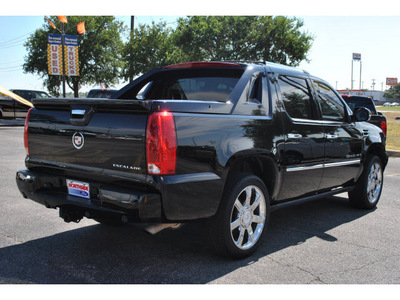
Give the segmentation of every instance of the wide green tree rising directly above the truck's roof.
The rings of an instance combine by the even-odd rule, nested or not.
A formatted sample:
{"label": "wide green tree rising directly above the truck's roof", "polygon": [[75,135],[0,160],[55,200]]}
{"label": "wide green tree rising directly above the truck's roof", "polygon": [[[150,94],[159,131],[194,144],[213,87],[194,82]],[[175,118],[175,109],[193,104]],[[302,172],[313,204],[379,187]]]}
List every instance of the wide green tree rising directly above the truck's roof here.
{"label": "wide green tree rising directly above the truck's roof", "polygon": [[272,16],[180,18],[173,41],[184,60],[256,60],[298,66],[314,37],[303,21]]}

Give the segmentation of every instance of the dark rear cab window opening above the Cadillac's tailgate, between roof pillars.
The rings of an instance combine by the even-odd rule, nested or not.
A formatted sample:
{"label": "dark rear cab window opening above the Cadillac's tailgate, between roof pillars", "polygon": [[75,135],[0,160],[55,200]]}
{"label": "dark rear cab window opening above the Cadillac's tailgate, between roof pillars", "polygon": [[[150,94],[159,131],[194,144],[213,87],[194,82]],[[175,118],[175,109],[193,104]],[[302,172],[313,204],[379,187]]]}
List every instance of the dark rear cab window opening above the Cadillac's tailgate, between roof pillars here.
{"label": "dark rear cab window opening above the Cadillac's tailgate, between roof pillars", "polygon": [[227,101],[242,74],[242,69],[232,68],[193,68],[160,72],[140,86],[133,87],[123,98],[130,96],[140,100]]}

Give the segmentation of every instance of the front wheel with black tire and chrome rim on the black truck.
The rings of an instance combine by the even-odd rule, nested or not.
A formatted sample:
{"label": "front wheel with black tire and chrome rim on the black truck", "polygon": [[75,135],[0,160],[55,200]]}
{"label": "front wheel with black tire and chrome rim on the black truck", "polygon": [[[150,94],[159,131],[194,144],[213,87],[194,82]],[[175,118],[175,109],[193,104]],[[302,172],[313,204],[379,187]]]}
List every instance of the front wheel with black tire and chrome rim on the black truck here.
{"label": "front wheel with black tire and chrome rim on the black truck", "polygon": [[357,208],[373,209],[379,202],[383,187],[383,168],[380,158],[368,156],[364,170],[356,182],[356,187],[349,192],[351,205]]}

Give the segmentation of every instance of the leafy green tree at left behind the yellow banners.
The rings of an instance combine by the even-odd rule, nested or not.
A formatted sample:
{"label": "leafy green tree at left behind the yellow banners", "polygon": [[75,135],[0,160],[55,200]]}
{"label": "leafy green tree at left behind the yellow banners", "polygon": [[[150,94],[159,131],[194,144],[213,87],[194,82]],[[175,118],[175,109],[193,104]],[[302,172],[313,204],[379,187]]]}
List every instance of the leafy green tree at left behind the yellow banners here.
{"label": "leafy green tree at left behind the yellow banners", "polygon": [[[87,33],[79,35],[79,75],[67,76],[66,82],[74,91],[75,97],[85,84],[102,82],[106,87],[118,83],[122,63],[120,53],[123,42],[121,32],[123,25],[114,17],[103,16],[69,16],[65,24],[65,33],[77,35],[76,25],[85,22]],[[57,17],[51,17],[58,24]],[[48,75],[47,71],[47,34],[59,33],[47,21],[42,28],[36,30],[26,41],[23,69],[25,73],[36,73],[44,80],[44,86],[53,95],[60,95],[61,76]]]}

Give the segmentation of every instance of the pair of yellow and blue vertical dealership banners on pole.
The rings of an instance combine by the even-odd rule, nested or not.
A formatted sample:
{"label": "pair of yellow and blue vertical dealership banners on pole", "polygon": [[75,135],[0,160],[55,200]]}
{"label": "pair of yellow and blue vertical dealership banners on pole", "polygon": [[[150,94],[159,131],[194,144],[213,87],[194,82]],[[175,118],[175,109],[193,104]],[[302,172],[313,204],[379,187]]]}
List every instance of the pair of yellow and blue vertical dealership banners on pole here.
{"label": "pair of yellow and blue vertical dealership banners on pole", "polygon": [[[49,75],[63,75],[62,35],[47,36],[47,67]],[[78,37],[64,35],[65,75],[79,76]]]}

